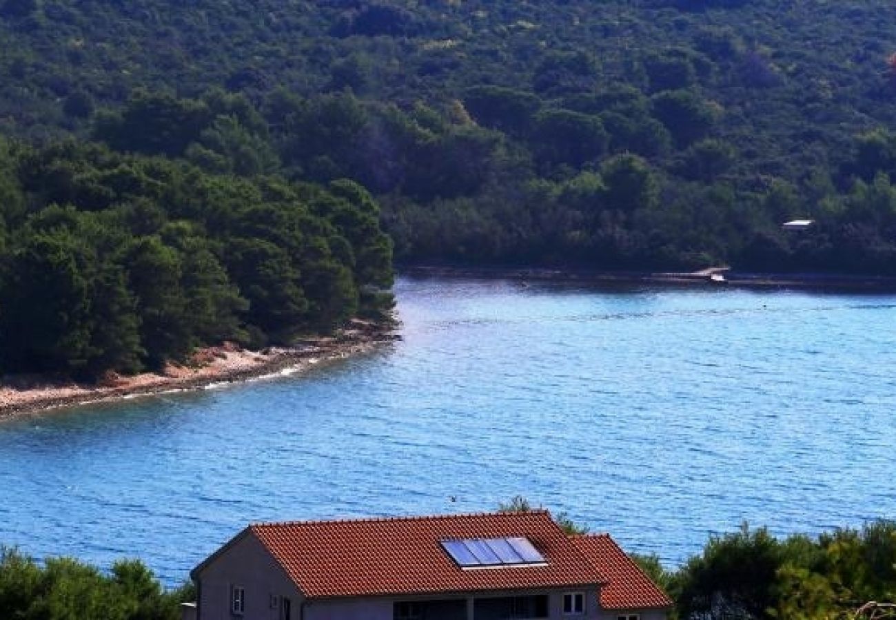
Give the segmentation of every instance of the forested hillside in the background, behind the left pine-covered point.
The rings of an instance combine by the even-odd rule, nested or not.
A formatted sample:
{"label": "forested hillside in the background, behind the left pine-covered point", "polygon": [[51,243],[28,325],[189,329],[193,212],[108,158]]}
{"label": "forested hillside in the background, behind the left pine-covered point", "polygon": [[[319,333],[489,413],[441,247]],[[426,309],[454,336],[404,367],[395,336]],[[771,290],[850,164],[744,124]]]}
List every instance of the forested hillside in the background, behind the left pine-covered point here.
{"label": "forested hillside in the background, behind the left pine-covered point", "polygon": [[3,0],[0,49],[5,133],[349,177],[401,260],[896,273],[884,0]]}

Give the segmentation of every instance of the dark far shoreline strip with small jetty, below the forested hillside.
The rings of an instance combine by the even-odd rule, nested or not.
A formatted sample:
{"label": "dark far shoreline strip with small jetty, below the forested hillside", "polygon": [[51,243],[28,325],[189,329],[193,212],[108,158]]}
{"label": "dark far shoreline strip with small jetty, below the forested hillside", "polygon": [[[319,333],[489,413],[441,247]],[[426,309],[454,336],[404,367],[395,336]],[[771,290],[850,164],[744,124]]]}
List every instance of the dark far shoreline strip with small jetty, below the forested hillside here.
{"label": "dark far shoreline strip with small jetty, below the forested hillside", "polygon": [[602,271],[579,268],[469,267],[461,265],[403,265],[401,275],[418,278],[487,278],[533,282],[586,284],[647,284],[711,288],[801,288],[820,291],[894,292],[896,277],[821,272],[752,272],[729,267],[701,271]]}

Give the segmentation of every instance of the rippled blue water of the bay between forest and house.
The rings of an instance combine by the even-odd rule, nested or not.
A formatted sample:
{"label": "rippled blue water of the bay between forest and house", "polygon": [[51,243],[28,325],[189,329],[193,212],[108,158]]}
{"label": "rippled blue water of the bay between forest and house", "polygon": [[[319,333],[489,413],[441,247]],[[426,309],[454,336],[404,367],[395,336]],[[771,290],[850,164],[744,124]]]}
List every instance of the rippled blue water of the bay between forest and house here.
{"label": "rippled blue water of the bay between forest and house", "polygon": [[521,494],[670,563],[896,516],[896,297],[401,280],[404,340],[0,425],[0,541],[169,583],[249,521]]}

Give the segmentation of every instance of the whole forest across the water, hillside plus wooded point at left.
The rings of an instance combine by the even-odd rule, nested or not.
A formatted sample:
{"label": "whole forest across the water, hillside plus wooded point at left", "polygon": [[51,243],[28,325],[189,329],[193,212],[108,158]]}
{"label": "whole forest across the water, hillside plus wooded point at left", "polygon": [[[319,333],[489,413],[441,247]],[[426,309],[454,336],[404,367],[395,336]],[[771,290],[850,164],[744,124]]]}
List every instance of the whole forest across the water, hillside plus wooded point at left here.
{"label": "whole forest across the water, hillside plus wooded point at left", "polygon": [[0,0],[5,356],[382,307],[377,218],[406,262],[896,274],[894,52],[883,0]]}

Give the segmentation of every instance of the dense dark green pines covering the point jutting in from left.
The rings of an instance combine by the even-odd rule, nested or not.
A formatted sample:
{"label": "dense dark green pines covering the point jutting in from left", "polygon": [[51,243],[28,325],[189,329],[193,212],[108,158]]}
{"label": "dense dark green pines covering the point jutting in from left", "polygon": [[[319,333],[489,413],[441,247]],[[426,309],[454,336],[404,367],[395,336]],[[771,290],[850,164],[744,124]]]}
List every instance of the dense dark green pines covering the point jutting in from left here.
{"label": "dense dark green pines covering the point jutting in from left", "polygon": [[375,202],[351,181],[296,184],[102,145],[0,142],[0,196],[7,372],[135,372],[199,345],[289,342],[391,307],[392,246]]}

